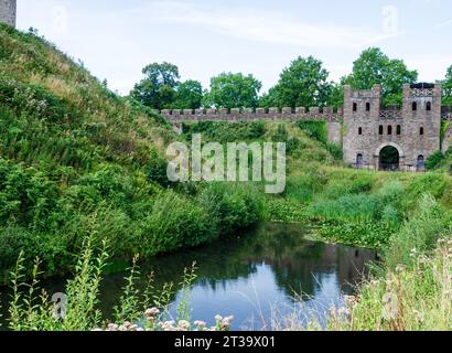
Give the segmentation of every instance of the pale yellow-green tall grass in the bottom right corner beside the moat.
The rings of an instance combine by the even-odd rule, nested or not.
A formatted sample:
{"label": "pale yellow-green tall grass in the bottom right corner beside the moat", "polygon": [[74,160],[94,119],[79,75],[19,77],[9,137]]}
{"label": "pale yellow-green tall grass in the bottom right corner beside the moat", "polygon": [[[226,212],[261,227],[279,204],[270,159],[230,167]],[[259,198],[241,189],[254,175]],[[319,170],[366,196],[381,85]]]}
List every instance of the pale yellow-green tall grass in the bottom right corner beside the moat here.
{"label": "pale yellow-green tall grass in the bottom right corner beside the moat", "polygon": [[440,239],[432,254],[411,252],[410,266],[399,265],[364,284],[329,330],[452,330],[452,242]]}

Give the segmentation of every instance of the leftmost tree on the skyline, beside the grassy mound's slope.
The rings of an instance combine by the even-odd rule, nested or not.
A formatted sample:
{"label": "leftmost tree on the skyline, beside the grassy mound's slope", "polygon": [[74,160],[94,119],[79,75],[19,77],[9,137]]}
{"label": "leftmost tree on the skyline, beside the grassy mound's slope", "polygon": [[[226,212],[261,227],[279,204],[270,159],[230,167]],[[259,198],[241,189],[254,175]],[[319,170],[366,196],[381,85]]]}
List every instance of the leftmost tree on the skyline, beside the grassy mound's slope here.
{"label": "leftmost tree on the skyline, beside the grassy mound's slope", "polygon": [[142,69],[146,77],[138,83],[130,95],[153,109],[171,107],[179,85],[177,66],[163,62],[153,63]]}

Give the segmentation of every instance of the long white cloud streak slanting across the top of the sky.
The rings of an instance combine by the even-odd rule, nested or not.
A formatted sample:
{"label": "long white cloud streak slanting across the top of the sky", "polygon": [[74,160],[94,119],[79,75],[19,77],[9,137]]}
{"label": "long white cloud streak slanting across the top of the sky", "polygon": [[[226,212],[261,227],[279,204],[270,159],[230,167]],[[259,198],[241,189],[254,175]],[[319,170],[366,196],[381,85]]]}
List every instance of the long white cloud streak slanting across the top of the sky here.
{"label": "long white cloud streak slanting across the top of the sky", "polygon": [[303,47],[356,49],[399,34],[385,35],[365,28],[308,23],[294,15],[256,9],[208,9],[179,1],[153,2],[134,9],[133,13],[140,13],[147,20],[204,26],[236,39]]}

